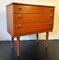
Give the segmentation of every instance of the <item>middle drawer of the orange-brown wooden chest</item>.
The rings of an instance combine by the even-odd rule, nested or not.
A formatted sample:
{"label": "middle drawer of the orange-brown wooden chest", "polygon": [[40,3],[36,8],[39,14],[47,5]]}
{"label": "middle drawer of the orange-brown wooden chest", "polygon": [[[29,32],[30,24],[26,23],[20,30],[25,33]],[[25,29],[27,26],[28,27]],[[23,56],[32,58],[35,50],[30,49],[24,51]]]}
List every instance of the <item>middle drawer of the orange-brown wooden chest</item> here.
{"label": "middle drawer of the orange-brown wooden chest", "polygon": [[14,14],[14,23],[51,22],[53,14]]}

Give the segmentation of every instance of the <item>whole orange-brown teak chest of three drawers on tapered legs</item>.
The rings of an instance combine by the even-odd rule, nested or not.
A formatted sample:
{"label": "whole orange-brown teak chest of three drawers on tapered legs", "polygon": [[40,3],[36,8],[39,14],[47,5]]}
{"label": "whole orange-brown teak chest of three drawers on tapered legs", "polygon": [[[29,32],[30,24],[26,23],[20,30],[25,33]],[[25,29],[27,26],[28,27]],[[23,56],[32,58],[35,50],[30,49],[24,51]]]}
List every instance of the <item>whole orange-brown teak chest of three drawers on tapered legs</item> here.
{"label": "whole orange-brown teak chest of three drawers on tapered legs", "polygon": [[11,3],[7,5],[7,29],[12,37],[17,37],[17,55],[20,55],[19,36],[46,32],[46,47],[48,46],[48,34],[53,30],[54,6],[30,5]]}

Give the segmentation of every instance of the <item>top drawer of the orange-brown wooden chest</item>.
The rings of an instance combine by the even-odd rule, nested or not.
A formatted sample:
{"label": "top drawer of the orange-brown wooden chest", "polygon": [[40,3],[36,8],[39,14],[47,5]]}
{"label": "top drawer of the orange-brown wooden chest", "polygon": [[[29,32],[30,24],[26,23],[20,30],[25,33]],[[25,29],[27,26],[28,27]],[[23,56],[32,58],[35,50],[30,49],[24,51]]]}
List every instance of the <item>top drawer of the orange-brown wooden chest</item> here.
{"label": "top drawer of the orange-brown wooden chest", "polygon": [[14,13],[53,13],[53,7],[13,5]]}

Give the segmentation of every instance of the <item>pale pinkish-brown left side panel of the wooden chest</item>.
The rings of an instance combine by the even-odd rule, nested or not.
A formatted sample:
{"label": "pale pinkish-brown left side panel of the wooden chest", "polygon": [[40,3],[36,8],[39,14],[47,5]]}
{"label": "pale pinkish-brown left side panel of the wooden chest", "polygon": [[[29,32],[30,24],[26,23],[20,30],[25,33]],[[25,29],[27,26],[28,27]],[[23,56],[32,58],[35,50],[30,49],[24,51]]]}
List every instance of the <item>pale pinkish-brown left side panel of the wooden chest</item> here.
{"label": "pale pinkish-brown left side panel of the wooden chest", "polygon": [[13,36],[13,5],[6,7],[7,10],[7,31]]}

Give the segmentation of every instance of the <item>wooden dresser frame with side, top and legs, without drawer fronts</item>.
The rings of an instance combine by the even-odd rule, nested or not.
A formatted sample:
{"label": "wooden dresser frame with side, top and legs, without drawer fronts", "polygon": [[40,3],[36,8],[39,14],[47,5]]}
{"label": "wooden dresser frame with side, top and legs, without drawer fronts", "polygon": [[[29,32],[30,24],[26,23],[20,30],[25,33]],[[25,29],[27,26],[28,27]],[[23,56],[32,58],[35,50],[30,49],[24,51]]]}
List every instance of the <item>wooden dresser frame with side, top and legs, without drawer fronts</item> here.
{"label": "wooden dresser frame with side, top and legs, without drawer fronts", "polygon": [[[12,20],[12,16],[13,16],[13,7],[11,5],[25,5],[25,6],[38,6],[38,7],[51,7],[51,8],[55,8],[54,6],[44,6],[44,5],[32,5],[32,4],[22,4],[22,3],[11,3],[9,5],[7,5],[7,29],[9,34],[11,35],[12,38],[12,48],[14,48],[14,38],[17,37],[17,56],[20,56],[20,36],[22,36],[23,34],[19,34],[19,35],[14,35],[13,34],[13,20]],[[9,7],[9,8],[8,8]],[[12,7],[12,8],[11,8]],[[54,10],[53,10],[54,11]],[[11,14],[10,14],[11,13]],[[10,16],[9,16],[10,14]],[[10,19],[10,20],[9,20]],[[54,20],[54,13],[53,13],[53,20]],[[11,23],[11,24],[10,24]],[[53,30],[53,26],[51,30],[47,30],[47,31],[43,31],[46,32],[46,48],[48,47],[48,36],[49,36],[49,32]],[[39,32],[39,33],[43,33],[43,32]],[[24,35],[28,35],[28,34],[33,34],[33,33],[25,33]],[[34,33],[35,34],[35,33]],[[36,33],[36,42],[38,43],[38,32]]]}

